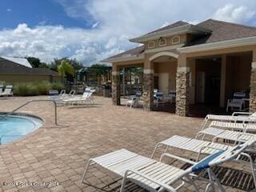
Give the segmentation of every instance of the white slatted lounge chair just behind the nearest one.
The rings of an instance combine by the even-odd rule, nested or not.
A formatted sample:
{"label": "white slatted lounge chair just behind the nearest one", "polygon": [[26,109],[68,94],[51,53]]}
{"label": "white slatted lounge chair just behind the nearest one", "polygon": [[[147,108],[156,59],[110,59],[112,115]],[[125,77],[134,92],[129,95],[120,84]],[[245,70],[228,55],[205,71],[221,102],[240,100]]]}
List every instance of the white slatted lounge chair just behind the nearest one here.
{"label": "white slatted lounge chair just behind the nearest one", "polygon": [[[247,143],[246,150],[250,150],[250,148],[254,146],[255,142],[256,142],[256,135],[254,135],[254,137],[251,137],[246,142],[244,142],[244,143]],[[235,142],[234,146],[239,143],[241,142]],[[151,154],[151,158],[154,157],[154,154],[157,152],[157,150],[160,147],[164,147],[166,149],[165,153],[169,152],[170,148],[172,148],[172,149],[190,151],[194,154],[197,154],[196,162],[198,162],[202,154],[205,154],[205,155],[215,154],[220,150],[230,150],[230,148],[234,146],[228,146],[218,142],[202,141],[196,138],[186,138],[186,137],[174,135],[171,138],[167,138],[162,142],[158,142],[158,144],[154,147],[154,151]],[[249,162],[246,161],[246,158],[248,159]],[[240,154],[238,158],[234,159],[234,161],[250,166],[251,174],[254,179],[254,186],[256,187],[256,174],[255,174],[256,167],[254,165],[254,160],[250,156],[250,154],[245,153],[245,151],[243,151],[243,153]]]}

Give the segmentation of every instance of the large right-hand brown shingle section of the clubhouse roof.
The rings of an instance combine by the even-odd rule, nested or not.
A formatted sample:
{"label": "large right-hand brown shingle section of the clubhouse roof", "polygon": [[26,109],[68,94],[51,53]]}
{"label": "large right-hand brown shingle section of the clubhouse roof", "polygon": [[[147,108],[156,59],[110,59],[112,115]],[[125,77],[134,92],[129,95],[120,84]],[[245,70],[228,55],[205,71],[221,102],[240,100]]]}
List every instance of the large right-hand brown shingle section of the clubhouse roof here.
{"label": "large right-hand brown shingle section of the clubhouse roof", "polygon": [[196,38],[186,46],[256,36],[256,27],[243,26],[236,23],[222,22],[214,19],[208,19],[205,22],[198,23],[197,26],[212,30],[212,33],[201,38]]}

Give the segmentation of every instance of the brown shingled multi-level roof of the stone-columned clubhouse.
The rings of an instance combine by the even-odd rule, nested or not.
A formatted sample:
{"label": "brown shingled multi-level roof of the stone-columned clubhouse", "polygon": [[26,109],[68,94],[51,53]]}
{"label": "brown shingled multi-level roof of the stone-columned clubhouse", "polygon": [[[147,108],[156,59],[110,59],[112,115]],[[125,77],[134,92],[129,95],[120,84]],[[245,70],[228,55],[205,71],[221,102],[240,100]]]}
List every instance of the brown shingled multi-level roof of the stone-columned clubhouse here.
{"label": "brown shingled multi-level roof of the stone-columned clubhouse", "polygon": [[[194,33],[194,39],[191,42],[187,42],[185,46],[178,48],[178,51],[194,49],[194,46],[210,46],[210,43],[227,43],[230,45],[230,41],[238,41],[237,43],[249,43],[256,44],[256,27],[244,26],[231,22],[222,22],[214,19],[208,19],[204,22],[200,22],[197,25],[191,25],[187,22],[174,22],[169,26],[162,27],[158,30],[151,31],[148,34],[142,35],[138,38],[130,39],[131,42],[140,42],[150,37],[156,37],[155,34],[170,35],[170,33],[177,32]],[[169,33],[169,34],[168,34]],[[199,34],[199,35],[198,35]],[[208,45],[209,44],[209,45]],[[240,44],[239,44],[240,45]],[[193,47],[192,47],[193,46]],[[238,46],[234,44],[233,46]],[[102,62],[117,62],[121,58],[138,58],[136,55],[142,55],[145,47],[139,46],[132,50],[127,50],[121,54],[114,55],[110,58],[102,60]],[[171,50],[174,51],[174,50]],[[177,52],[177,50],[175,50]],[[174,51],[174,52],[175,52]],[[121,61],[121,60],[120,60]]]}

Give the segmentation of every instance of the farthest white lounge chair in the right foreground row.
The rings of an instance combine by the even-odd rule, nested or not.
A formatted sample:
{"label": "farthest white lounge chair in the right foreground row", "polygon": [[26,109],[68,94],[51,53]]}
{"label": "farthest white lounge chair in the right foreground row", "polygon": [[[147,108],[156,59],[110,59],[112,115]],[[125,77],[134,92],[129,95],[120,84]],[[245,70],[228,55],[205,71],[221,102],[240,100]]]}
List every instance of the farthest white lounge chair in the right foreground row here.
{"label": "farthest white lounge chair in the right foreground row", "polygon": [[212,121],[219,122],[256,122],[256,112],[234,112],[232,115],[207,114],[202,122],[202,129]]}

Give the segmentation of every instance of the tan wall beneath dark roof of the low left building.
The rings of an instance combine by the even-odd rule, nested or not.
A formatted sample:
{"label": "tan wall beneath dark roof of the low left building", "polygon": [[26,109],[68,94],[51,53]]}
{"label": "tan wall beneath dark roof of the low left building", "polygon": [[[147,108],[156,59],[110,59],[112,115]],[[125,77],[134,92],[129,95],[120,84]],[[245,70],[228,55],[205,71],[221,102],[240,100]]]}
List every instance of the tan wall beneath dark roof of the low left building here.
{"label": "tan wall beneath dark roof of the low left building", "polygon": [[0,82],[60,82],[61,77],[33,74],[0,74]]}

